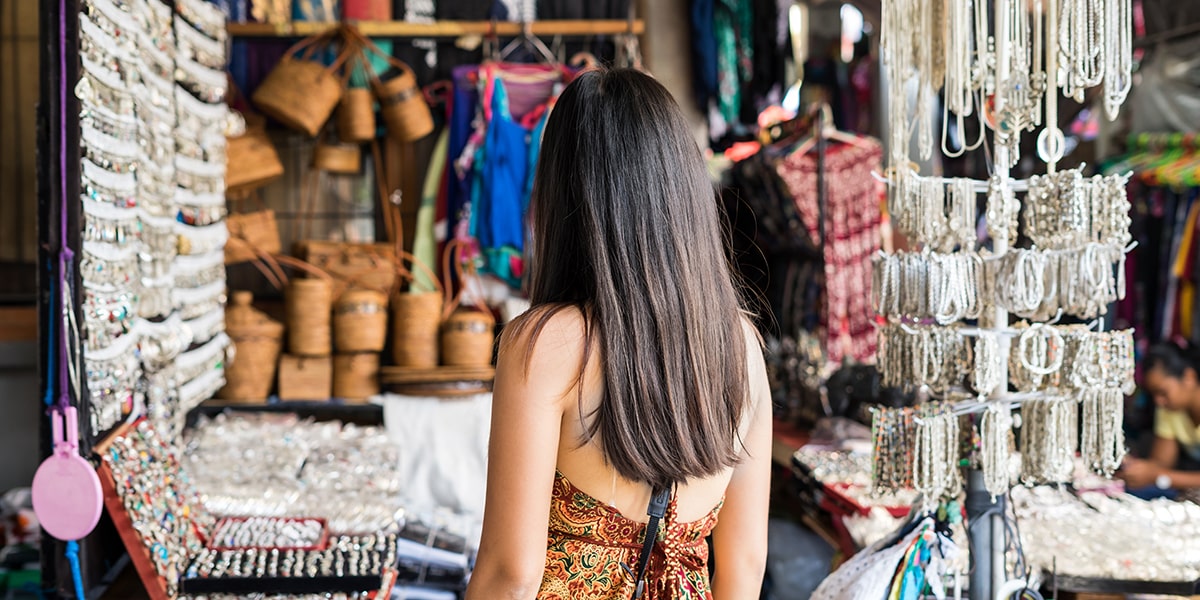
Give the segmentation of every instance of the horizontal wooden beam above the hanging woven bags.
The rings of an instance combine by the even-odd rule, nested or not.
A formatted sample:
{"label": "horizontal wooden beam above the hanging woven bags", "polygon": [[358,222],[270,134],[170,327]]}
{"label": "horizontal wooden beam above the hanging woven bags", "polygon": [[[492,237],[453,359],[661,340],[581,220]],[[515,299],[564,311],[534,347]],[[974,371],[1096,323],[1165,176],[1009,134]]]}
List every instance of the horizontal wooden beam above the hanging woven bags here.
{"label": "horizontal wooden beam above the hanging woven bags", "polygon": [[[306,37],[320,34],[337,23],[230,23],[229,35],[233,37]],[[512,37],[521,35],[521,23],[490,20],[439,20],[434,23],[409,23],[404,20],[360,20],[354,25],[368,37],[463,37],[484,36],[496,28],[496,35]],[[628,20],[535,20],[529,24],[535,36],[590,36],[626,34]],[[635,19],[635,35],[646,31],[646,23]]]}

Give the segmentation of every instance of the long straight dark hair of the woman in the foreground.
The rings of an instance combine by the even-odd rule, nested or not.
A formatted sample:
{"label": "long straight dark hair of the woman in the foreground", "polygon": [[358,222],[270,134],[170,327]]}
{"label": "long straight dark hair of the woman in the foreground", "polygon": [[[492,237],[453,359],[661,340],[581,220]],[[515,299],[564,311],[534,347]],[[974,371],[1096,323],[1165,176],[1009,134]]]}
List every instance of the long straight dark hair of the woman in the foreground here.
{"label": "long straight dark hair of the woman in the foreground", "polygon": [[678,104],[644,73],[584,72],[558,98],[539,156],[529,296],[546,310],[530,340],[562,308],[583,314],[584,365],[602,360],[604,398],[581,444],[598,439],[622,476],[655,486],[734,464],[744,313],[716,191]]}

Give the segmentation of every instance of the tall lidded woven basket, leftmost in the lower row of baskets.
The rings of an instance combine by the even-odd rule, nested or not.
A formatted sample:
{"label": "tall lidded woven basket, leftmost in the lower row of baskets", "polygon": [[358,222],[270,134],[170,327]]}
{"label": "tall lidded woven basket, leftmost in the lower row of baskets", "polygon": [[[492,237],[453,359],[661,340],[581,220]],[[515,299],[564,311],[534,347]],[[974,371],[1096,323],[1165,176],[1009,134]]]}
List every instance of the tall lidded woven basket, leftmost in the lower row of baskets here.
{"label": "tall lidded woven basket, leftmost in the lower row of baskets", "polygon": [[226,308],[226,332],[236,350],[226,365],[226,385],[217,397],[233,403],[260,403],[271,394],[283,350],[283,324],[254,310],[250,292],[234,292]]}

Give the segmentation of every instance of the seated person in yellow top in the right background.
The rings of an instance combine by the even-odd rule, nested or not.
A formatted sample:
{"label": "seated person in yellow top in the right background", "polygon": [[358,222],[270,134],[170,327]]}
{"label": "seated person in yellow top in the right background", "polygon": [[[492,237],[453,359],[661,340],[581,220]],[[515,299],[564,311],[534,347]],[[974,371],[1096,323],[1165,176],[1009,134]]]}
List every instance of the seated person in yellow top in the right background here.
{"label": "seated person in yellow top in the right background", "polygon": [[1126,458],[1117,476],[1130,490],[1200,491],[1200,353],[1160,343],[1141,366],[1157,407],[1154,444],[1148,458]]}

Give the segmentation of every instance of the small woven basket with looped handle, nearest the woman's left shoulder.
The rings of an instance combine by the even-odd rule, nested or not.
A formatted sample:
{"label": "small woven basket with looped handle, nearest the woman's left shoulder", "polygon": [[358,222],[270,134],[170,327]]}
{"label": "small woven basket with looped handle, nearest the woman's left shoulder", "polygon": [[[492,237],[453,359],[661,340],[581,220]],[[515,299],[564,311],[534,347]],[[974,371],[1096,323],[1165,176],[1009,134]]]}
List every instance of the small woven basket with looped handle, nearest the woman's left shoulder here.
{"label": "small woven basket with looped handle, nearest the woman's left shoulder", "polygon": [[479,281],[473,263],[463,257],[464,250],[466,244],[461,241],[450,242],[445,250],[445,271],[450,271],[452,259],[460,289],[454,298],[446,293],[446,305],[442,313],[442,364],[455,367],[486,367],[492,364],[496,317],[479,296],[476,296],[476,310],[461,306],[467,287],[470,282]]}

